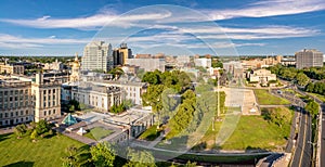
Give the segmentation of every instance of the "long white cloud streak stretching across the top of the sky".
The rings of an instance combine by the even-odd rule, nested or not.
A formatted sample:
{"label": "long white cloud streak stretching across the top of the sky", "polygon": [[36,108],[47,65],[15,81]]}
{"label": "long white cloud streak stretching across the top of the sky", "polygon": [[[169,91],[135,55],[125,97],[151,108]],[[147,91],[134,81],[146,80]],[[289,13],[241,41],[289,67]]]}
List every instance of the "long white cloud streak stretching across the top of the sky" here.
{"label": "long white cloud streak stretching across the top of the sky", "polygon": [[[122,15],[116,14],[115,10],[104,8],[100,13],[72,18],[53,18],[44,15],[35,20],[9,20],[2,18],[0,22],[23,25],[37,28],[78,28],[93,29],[99,28],[107,23],[110,26],[131,27],[131,26],[148,26],[161,23],[180,23],[180,22],[204,22],[219,21],[234,17],[265,17],[277,15],[300,14],[306,12],[314,12],[325,10],[324,0],[260,0],[255,3],[248,3],[242,9],[221,9],[210,10],[202,9],[198,11],[176,8],[176,7],[145,7],[136,9]],[[144,24],[144,22],[150,23]]]}

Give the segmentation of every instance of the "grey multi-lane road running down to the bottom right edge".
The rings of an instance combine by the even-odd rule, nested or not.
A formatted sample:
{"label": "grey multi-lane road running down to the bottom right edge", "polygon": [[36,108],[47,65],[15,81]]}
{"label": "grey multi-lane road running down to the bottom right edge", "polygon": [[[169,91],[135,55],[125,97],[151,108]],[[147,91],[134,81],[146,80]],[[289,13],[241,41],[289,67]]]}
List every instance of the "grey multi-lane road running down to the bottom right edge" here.
{"label": "grey multi-lane road running down to the bottom right edge", "polygon": [[302,112],[298,143],[291,163],[292,167],[311,166],[312,145],[309,143],[309,141],[311,141],[311,117],[306,112]]}

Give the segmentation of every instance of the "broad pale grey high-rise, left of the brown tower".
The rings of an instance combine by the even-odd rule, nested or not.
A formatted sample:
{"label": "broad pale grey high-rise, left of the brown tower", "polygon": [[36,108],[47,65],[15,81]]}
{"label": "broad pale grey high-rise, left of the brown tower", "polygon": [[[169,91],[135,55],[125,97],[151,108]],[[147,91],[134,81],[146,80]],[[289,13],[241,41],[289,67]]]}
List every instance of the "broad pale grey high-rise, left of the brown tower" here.
{"label": "broad pale grey high-rise, left of the brown tower", "polygon": [[92,41],[83,49],[81,69],[108,72],[113,68],[113,51],[110,43]]}

